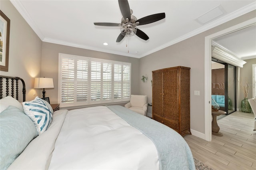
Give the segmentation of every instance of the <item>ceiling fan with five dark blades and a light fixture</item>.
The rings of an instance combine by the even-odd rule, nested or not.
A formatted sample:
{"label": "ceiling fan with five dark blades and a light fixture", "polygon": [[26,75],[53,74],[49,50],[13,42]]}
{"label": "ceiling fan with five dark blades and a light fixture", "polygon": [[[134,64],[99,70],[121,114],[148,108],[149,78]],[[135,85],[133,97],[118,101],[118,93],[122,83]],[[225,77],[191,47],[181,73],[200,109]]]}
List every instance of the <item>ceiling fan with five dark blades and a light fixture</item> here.
{"label": "ceiling fan with five dark blades and a light fixture", "polygon": [[137,28],[137,26],[150,24],[165,18],[165,13],[153,14],[150,16],[145,16],[137,20],[135,16],[132,15],[132,10],[130,9],[128,0],[118,0],[118,4],[122,13],[123,18],[121,19],[121,24],[108,23],[108,22],[94,22],[96,26],[120,26],[121,33],[119,34],[116,42],[120,42],[123,38],[129,36],[138,36],[143,40],[148,40],[149,37],[143,31]]}

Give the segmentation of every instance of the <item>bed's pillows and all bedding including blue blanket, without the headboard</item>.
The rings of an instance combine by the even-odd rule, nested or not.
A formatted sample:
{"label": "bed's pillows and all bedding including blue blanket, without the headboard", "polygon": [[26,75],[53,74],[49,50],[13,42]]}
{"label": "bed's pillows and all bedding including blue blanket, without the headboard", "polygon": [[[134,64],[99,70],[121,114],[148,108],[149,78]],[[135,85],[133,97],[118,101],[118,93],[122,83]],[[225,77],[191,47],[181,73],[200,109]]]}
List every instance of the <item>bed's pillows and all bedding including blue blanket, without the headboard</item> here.
{"label": "bed's pillows and all bedding including blue blanket, without the headboard", "polygon": [[[20,103],[8,95],[3,97],[2,87],[0,91],[4,108],[0,113],[1,170],[195,169],[191,150],[180,134],[125,107],[109,105],[53,113],[39,97]],[[40,109],[46,113],[40,118],[44,125],[38,123],[35,113],[41,114]],[[14,129],[10,129],[11,124]]]}

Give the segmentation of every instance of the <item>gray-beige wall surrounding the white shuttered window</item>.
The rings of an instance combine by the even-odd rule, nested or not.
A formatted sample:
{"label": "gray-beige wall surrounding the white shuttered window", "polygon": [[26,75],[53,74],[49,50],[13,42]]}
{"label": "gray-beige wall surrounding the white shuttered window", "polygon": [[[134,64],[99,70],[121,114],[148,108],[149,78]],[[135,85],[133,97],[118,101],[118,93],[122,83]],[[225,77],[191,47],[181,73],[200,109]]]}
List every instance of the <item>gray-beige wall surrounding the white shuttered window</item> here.
{"label": "gray-beige wall surrounding the white shuttered window", "polygon": [[70,47],[66,45],[59,45],[54,43],[42,43],[42,77],[53,78],[54,89],[46,89],[46,96],[50,97],[50,103],[58,102],[58,57],[59,53],[66,53],[72,55],[80,55],[84,57],[93,57],[100,59],[108,59],[114,61],[123,61],[132,63],[132,94],[139,94],[139,59],[133,57],[126,57],[122,55],[104,53],[100,51],[93,51],[89,49],[82,49]]}

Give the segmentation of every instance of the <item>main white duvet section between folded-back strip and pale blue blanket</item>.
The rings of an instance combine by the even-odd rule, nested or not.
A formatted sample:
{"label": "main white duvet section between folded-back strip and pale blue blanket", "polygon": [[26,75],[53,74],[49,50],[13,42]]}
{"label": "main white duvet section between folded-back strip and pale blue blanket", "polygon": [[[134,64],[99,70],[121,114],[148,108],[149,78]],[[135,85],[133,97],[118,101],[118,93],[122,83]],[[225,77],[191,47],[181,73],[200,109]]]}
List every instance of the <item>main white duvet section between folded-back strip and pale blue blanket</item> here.
{"label": "main white duvet section between folded-back strip and pale blue blanket", "polygon": [[68,112],[49,166],[62,170],[158,168],[154,143],[104,106]]}

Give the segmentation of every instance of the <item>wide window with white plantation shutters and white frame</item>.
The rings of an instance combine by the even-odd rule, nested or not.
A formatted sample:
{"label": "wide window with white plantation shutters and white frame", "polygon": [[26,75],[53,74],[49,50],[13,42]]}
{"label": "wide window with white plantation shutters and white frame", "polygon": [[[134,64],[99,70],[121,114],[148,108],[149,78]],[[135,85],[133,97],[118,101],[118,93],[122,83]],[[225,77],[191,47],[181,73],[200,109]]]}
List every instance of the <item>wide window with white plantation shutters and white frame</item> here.
{"label": "wide window with white plantation shutters and white frame", "polygon": [[131,63],[59,54],[61,107],[128,101]]}

